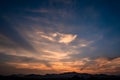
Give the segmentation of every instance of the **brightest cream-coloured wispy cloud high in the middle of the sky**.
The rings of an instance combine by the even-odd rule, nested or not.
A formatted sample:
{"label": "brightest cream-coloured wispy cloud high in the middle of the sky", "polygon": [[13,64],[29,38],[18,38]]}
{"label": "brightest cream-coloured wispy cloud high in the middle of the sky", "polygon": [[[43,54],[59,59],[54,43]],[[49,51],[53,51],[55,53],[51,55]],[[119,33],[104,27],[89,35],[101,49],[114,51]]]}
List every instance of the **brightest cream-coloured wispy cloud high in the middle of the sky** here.
{"label": "brightest cream-coloured wispy cloud high in the middle of the sky", "polygon": [[65,33],[50,33],[46,34],[44,32],[37,32],[42,38],[45,38],[49,41],[69,44],[77,38],[77,35],[74,34],[65,34]]}

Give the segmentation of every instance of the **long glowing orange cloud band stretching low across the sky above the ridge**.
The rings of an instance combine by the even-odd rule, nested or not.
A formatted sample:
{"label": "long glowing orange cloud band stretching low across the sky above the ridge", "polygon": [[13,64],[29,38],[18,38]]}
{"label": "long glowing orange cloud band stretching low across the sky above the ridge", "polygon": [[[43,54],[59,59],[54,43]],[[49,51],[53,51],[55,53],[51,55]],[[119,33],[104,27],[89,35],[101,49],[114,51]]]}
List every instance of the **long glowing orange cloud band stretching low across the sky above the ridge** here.
{"label": "long glowing orange cloud band stretching low across the sky above the ridge", "polygon": [[[18,69],[37,69],[37,70],[53,70],[57,72],[80,72],[80,73],[118,73],[120,70],[120,58],[108,60],[107,58],[98,58],[91,60],[89,58],[82,58],[80,61],[50,61],[49,66],[44,63],[24,63],[24,62],[8,62]],[[87,65],[87,66],[86,66]],[[84,67],[84,69],[80,69]]]}

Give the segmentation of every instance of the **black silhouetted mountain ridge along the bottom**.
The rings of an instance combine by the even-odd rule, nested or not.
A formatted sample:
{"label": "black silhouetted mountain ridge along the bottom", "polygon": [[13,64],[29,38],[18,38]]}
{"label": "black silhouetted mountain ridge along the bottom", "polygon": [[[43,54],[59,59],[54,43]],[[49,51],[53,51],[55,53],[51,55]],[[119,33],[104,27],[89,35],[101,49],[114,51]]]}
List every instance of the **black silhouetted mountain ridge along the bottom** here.
{"label": "black silhouetted mountain ridge along the bottom", "polygon": [[9,75],[0,76],[0,80],[120,80],[120,76],[114,75],[90,75],[80,73],[63,73],[47,75]]}

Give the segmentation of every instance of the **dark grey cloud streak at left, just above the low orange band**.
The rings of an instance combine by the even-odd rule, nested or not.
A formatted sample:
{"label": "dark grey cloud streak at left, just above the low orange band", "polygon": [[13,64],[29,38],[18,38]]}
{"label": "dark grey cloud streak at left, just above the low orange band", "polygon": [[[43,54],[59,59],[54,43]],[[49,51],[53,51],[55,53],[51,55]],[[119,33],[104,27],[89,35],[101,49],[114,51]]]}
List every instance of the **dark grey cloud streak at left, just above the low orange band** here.
{"label": "dark grey cloud streak at left, just above the low orange band", "polygon": [[46,60],[38,60],[26,56],[9,55],[2,52],[0,52],[0,62],[1,63],[6,63],[6,62],[44,63],[46,65],[49,65],[48,64],[49,61]]}

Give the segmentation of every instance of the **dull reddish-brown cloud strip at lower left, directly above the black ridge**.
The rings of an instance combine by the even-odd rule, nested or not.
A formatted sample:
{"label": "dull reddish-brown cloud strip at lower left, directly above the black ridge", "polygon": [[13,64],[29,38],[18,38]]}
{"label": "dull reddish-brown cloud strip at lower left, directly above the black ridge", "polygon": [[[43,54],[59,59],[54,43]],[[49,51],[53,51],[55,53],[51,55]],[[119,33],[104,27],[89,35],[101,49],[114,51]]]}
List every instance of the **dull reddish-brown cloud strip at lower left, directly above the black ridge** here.
{"label": "dull reddish-brown cloud strip at lower left, directly above the black ridge", "polygon": [[46,74],[46,73],[58,73],[53,70],[38,70],[38,69],[27,69],[27,68],[15,68],[9,64],[0,64],[0,74],[11,75],[12,74]]}

